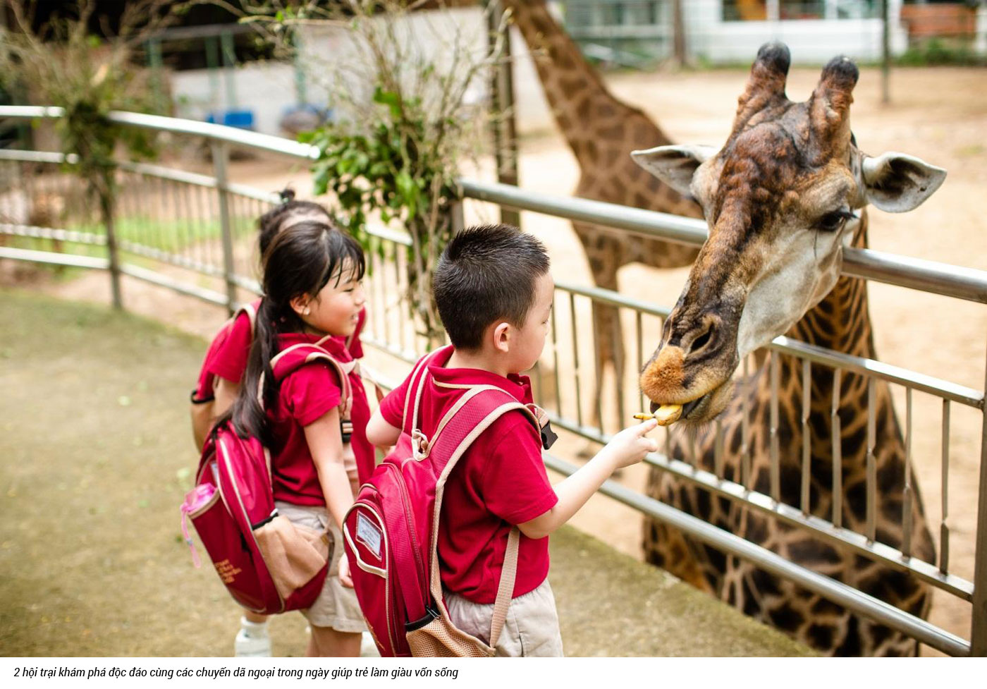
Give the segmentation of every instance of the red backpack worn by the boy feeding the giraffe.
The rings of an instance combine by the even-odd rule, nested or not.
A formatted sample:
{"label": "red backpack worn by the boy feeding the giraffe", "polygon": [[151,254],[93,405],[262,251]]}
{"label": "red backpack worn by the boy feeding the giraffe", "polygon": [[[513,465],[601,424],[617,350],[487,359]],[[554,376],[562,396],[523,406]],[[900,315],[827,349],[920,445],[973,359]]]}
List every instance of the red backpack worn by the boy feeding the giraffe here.
{"label": "red backpack worn by the boy feeding the giraffe", "polygon": [[[446,413],[432,437],[425,437],[418,408],[430,378],[427,363],[446,351],[438,349],[418,361],[408,385],[401,437],[360,487],[343,520],[356,597],[383,656],[493,655],[514,589],[520,539],[516,526],[507,540],[490,644],[452,624],[438,566],[442,493],[459,458],[493,421],[518,410],[541,432],[545,417],[496,386],[475,385]],[[551,435],[551,429],[547,432]]]}

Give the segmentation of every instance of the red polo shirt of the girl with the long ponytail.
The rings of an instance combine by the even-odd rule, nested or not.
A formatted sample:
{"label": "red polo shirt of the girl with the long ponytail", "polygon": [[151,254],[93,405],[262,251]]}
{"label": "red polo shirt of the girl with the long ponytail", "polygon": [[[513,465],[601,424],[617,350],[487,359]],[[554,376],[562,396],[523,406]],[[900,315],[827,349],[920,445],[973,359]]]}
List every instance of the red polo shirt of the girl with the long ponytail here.
{"label": "red polo shirt of the girl with the long ponytail", "polygon": [[[317,343],[319,336],[290,333],[278,336],[279,350],[301,343]],[[339,361],[352,357],[342,338],[331,338],[322,347]],[[360,483],[366,481],[374,468],[373,445],[367,440],[366,427],[370,407],[360,377],[349,374],[353,390],[350,439],[356,458]],[[342,391],[335,371],[324,361],[313,361],[288,374],[280,384],[276,403],[267,410],[275,441],[270,447],[274,499],[292,504],[324,505],[326,498],[319,483],[319,474],[312,460],[305,426],[317,421],[342,401]]]}

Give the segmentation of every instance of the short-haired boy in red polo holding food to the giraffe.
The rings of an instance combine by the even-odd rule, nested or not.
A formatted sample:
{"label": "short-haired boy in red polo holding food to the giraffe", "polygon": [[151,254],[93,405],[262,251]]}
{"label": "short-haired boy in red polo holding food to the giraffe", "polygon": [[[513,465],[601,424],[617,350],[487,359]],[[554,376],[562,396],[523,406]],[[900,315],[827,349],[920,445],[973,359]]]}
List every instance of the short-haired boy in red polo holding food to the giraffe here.
{"label": "short-haired boy in red polo holding food to the giraffe", "polygon": [[[453,346],[446,360],[429,365],[421,431],[431,437],[465,386],[496,385],[530,404],[529,380],[518,373],[541,355],[555,290],[541,242],[509,225],[464,230],[443,252],[432,286]],[[408,384],[388,395],[371,418],[367,438],[373,444],[397,441]],[[562,655],[547,537],[616,469],[657,449],[645,437],[655,425],[647,421],[621,431],[555,489],[542,462],[541,438],[524,415],[508,412],[481,433],[449,475],[440,515],[438,556],[452,623],[489,642],[507,536],[517,525],[517,575],[497,655]]]}

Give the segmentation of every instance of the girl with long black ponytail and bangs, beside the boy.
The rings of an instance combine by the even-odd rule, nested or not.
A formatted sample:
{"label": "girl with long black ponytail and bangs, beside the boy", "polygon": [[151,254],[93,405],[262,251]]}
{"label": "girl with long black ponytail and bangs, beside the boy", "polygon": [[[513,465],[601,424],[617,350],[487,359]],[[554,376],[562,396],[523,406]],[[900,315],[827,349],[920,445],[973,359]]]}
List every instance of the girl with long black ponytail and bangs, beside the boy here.
{"label": "girl with long black ponytail and bangs, beside the boy", "polygon": [[353,372],[352,454],[344,456],[341,385],[333,369],[315,360],[278,383],[270,359],[292,345],[318,344],[343,363],[352,360],[343,339],[359,323],[363,270],[356,241],[322,222],[298,222],[271,240],[257,332],[230,411],[238,432],[260,438],[270,450],[278,511],[296,524],[328,530],[334,539],[322,593],[303,611],[312,628],[310,656],[355,657],[360,651],[365,625],[342,558],[340,527],[353,500],[351,483],[358,485],[373,470],[374,450],[366,439],[370,409]]}

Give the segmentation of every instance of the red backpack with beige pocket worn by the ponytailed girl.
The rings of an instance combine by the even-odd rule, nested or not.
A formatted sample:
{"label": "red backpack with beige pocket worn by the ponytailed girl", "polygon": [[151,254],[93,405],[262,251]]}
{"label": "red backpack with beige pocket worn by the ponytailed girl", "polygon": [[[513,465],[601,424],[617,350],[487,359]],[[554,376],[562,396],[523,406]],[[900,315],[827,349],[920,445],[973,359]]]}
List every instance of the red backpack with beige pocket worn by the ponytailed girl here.
{"label": "red backpack with beige pocket worn by the ponytailed girl", "polygon": [[[281,350],[270,366],[281,381],[316,360],[329,363],[341,381],[343,447],[348,449],[348,372],[355,362],[341,363],[318,344],[302,344]],[[310,607],[319,596],[335,544],[327,533],[297,526],[278,514],[270,453],[257,438],[240,437],[230,421],[206,437],[195,488],[182,504],[182,532],[198,567],[186,517],[230,595],[244,608],[271,615]]]}

